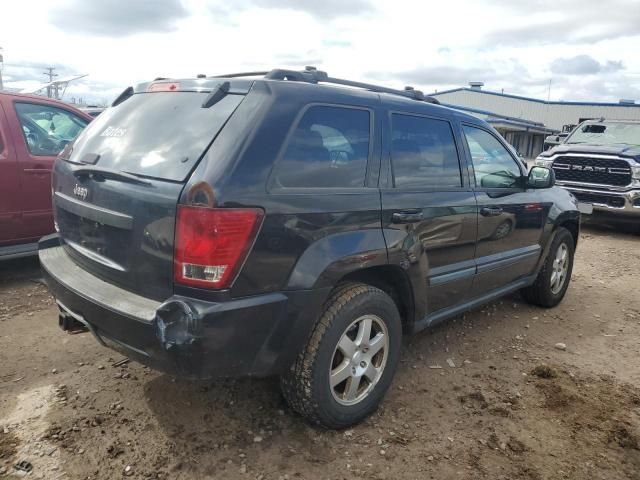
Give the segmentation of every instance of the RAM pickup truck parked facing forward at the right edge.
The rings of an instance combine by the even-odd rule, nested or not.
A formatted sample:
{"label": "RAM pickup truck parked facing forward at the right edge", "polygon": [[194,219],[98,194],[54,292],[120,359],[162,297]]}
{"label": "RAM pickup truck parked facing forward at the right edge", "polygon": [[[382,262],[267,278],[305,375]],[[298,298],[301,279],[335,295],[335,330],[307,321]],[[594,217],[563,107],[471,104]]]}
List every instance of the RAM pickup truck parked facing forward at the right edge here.
{"label": "RAM pickup truck parked facing forward at the right edge", "polygon": [[[640,226],[640,121],[588,120],[536,159],[593,218]],[[588,213],[588,212],[585,212]]]}

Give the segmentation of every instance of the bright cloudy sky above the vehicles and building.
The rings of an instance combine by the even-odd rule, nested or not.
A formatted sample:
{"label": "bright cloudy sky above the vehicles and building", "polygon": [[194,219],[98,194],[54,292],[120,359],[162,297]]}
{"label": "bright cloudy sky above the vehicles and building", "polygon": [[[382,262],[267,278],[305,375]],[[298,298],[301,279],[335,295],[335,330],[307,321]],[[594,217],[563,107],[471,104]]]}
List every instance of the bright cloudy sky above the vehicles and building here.
{"label": "bright cloudy sky above the vehicles and building", "polygon": [[[316,65],[425,92],[484,81],[552,100],[640,102],[640,8],[629,0],[22,0],[3,5],[5,85],[88,73],[66,99],[128,85]],[[551,90],[549,92],[549,81]]]}

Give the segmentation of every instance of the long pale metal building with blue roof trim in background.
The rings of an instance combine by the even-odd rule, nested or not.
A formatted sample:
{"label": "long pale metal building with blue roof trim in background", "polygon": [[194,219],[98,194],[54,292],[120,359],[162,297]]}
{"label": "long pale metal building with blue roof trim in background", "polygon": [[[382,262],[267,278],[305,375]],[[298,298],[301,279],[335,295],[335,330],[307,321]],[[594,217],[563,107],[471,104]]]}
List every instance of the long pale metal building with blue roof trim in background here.
{"label": "long pale metal building with blue roof trim in background", "polygon": [[505,137],[524,157],[535,158],[543,149],[544,138],[565,125],[577,125],[590,118],[640,120],[640,104],[633,100],[619,103],[544,101],[506,93],[482,90],[482,82],[470,88],[432,93],[440,103],[482,117]]}

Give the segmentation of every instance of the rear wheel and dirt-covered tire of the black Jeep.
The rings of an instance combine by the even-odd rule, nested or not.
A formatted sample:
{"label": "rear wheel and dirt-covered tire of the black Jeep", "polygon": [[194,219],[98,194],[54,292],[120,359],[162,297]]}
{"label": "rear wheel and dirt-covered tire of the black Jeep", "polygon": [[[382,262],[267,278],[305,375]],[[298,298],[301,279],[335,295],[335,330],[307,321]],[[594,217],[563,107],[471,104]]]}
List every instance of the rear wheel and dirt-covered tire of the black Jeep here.
{"label": "rear wheel and dirt-covered tire of the black Jeep", "polygon": [[[371,341],[359,344],[367,319]],[[325,302],[306,346],[281,377],[282,394],[311,423],[331,429],[354,425],[382,401],[398,366],[401,341],[400,314],[389,295],[362,283],[340,285]],[[349,357],[343,349],[355,353]],[[344,375],[344,381],[335,383]],[[375,377],[373,382],[370,377]]]}

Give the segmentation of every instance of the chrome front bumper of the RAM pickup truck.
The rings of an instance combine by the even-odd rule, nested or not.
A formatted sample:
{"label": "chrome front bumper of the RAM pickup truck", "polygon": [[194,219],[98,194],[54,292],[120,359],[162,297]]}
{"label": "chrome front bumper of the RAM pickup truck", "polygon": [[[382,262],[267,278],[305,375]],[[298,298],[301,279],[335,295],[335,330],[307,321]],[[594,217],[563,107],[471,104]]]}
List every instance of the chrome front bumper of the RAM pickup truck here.
{"label": "chrome front bumper of the RAM pickup truck", "polygon": [[618,192],[564,185],[563,188],[573,193],[581,202],[591,203],[595,218],[640,221],[640,190]]}

